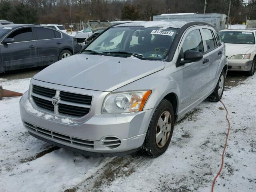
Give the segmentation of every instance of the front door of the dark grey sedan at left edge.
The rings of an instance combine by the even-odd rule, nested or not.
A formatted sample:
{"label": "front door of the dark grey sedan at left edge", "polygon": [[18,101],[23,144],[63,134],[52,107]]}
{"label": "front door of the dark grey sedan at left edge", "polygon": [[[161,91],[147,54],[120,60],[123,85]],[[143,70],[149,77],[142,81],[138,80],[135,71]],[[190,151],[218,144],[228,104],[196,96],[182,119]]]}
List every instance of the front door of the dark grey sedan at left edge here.
{"label": "front door of the dark grey sedan at left edge", "polygon": [[2,63],[5,70],[37,66],[36,40],[32,27],[18,28],[8,34],[6,38],[14,38],[15,42],[8,44],[1,42],[0,44]]}

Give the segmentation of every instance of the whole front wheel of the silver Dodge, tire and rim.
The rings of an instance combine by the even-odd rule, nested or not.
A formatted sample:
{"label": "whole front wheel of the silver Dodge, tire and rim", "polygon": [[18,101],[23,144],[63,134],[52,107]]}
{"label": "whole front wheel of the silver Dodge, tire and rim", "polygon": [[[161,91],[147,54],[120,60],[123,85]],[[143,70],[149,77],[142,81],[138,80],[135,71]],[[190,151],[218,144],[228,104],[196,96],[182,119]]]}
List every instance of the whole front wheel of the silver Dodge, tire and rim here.
{"label": "whole front wheel of the silver Dodge, tire and rim", "polygon": [[152,116],[142,151],[155,158],[168,148],[174,127],[174,110],[171,102],[163,99]]}

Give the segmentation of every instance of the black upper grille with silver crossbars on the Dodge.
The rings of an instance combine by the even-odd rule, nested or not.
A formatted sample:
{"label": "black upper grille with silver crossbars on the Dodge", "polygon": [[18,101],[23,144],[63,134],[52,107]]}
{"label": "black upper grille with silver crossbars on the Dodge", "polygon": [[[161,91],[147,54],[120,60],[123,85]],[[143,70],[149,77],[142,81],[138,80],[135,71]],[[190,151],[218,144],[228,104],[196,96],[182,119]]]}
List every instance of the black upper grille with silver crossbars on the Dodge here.
{"label": "black upper grille with silver crossbars on the Dodge", "polygon": [[[64,92],[37,85],[33,85],[31,95],[34,103],[38,107],[54,112],[54,114],[74,117],[81,117],[88,114],[92,103],[92,96]],[[52,104],[53,97],[58,98],[56,107]]]}

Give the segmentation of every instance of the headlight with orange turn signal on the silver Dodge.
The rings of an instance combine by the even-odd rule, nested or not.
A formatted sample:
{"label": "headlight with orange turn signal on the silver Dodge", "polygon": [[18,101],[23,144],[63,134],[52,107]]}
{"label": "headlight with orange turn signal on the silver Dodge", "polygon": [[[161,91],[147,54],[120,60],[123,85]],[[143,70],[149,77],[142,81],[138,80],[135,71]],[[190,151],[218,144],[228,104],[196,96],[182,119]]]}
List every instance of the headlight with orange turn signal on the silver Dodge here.
{"label": "headlight with orange turn signal on the silver Dodge", "polygon": [[142,111],[151,90],[110,93],[104,100],[102,113]]}

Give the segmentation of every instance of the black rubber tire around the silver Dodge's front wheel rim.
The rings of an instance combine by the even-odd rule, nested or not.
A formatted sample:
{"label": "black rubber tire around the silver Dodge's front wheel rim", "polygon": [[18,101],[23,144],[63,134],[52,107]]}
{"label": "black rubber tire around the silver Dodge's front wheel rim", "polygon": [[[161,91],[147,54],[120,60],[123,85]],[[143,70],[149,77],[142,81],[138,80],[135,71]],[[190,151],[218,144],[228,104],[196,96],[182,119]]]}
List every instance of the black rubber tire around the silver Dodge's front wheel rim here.
{"label": "black rubber tire around the silver Dodge's front wheel rim", "polygon": [[[166,139],[166,143],[164,146],[159,147],[159,143],[157,144],[156,142],[156,131],[157,129],[159,130],[158,127],[158,120],[161,118],[161,115],[164,112],[169,112],[170,114],[170,132],[166,132],[166,138],[168,134],[168,139]],[[151,118],[150,124],[148,126],[148,131],[146,133],[146,138],[144,140],[144,143],[142,145],[142,152],[146,153],[148,156],[152,158],[156,158],[160,155],[162,155],[168,148],[171,138],[172,138],[172,133],[173,133],[173,128],[174,128],[174,111],[173,107],[170,101],[163,99],[158,106],[156,107],[156,110]],[[164,130],[164,128],[163,128]],[[167,130],[167,126],[166,126]],[[160,131],[161,132],[161,131]],[[164,134],[165,135],[165,134]]]}

